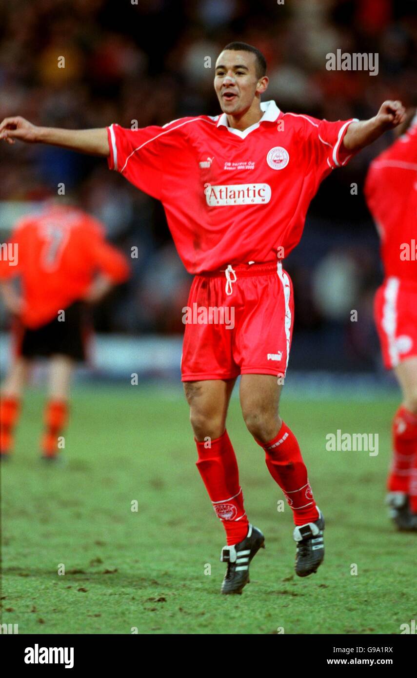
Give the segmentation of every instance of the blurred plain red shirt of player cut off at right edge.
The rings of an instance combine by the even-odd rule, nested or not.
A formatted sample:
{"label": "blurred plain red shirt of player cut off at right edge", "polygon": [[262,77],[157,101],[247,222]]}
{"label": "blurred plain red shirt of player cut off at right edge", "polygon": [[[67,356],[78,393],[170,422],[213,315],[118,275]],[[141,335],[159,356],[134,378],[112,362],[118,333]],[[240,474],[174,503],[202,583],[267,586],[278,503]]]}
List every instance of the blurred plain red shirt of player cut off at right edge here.
{"label": "blurred plain red shirt of player cut off at right edge", "polygon": [[365,197],[381,237],[385,275],[417,281],[417,116],[371,163]]}

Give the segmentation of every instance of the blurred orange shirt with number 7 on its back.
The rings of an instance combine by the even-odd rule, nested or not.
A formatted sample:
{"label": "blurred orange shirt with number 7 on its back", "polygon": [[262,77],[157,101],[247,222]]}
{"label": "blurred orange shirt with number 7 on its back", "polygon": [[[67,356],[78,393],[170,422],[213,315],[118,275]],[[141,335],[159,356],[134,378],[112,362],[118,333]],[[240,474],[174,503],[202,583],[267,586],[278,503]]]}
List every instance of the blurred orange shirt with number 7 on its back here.
{"label": "blurred orange shirt with number 7 on its back", "polygon": [[106,243],[102,224],[73,207],[48,205],[24,217],[8,247],[16,258],[0,259],[0,280],[20,277],[26,327],[49,322],[83,298],[96,272],[115,283],[129,275],[125,256]]}

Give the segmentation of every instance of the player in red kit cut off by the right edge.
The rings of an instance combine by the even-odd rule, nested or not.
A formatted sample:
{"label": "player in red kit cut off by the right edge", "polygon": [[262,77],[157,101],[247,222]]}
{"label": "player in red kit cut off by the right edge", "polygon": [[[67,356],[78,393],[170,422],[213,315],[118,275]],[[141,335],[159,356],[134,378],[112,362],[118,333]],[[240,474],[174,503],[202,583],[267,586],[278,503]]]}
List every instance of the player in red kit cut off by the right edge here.
{"label": "player in red kit cut off by the right edge", "polygon": [[[365,196],[381,238],[384,282],[375,319],[384,365],[403,401],[393,420],[393,460],[386,502],[399,530],[417,530],[417,115],[371,163]],[[396,130],[397,131],[397,130]]]}

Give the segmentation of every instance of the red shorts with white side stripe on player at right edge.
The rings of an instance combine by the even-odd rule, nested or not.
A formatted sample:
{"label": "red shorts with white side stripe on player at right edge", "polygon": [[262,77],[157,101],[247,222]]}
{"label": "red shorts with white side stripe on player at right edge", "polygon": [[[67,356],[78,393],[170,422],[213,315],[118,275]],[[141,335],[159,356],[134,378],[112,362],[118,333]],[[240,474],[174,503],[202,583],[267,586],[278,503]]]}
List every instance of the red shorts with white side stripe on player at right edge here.
{"label": "red shorts with white side stripe on player at right edge", "polygon": [[416,357],[417,283],[386,278],[376,291],[374,313],[386,369]]}

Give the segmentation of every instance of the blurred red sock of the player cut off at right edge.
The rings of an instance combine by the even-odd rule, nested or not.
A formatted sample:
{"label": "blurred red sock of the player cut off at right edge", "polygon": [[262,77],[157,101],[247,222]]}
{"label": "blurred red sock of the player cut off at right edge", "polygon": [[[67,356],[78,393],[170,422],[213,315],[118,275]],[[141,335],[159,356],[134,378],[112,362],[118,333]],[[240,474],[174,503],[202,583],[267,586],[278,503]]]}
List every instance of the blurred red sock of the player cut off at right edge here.
{"label": "blurred red sock of the player cut off at right edge", "polygon": [[417,513],[417,416],[403,405],[393,420],[393,461],[388,489],[410,494],[411,509]]}

